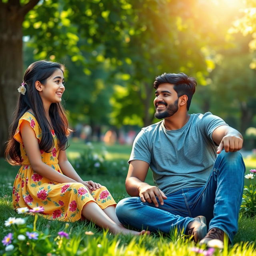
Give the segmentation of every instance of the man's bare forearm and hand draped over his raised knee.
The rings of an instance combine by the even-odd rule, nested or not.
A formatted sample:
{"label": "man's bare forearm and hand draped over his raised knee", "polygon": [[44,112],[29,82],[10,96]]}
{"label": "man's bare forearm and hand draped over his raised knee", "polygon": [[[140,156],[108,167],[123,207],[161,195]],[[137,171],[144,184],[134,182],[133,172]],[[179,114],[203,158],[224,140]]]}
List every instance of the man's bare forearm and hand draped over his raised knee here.
{"label": "man's bare forearm and hand draped over his raised knee", "polygon": [[219,145],[217,154],[224,148],[226,152],[236,152],[243,146],[243,136],[236,129],[222,125],[212,132],[212,140]]}

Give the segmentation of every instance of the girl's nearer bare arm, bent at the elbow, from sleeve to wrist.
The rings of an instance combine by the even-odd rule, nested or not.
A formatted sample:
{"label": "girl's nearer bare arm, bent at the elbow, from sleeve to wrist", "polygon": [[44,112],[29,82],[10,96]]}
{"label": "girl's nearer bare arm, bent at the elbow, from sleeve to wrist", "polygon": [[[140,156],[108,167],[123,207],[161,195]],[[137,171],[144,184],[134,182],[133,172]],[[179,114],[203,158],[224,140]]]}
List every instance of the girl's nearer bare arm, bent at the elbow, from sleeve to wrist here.
{"label": "girl's nearer bare arm, bent at the elbow, from sleeve to wrist", "polygon": [[50,166],[42,162],[38,140],[29,122],[21,123],[20,133],[26,153],[28,155],[28,160],[34,172],[37,172],[41,176],[58,183],[77,182],[75,179],[56,172]]}

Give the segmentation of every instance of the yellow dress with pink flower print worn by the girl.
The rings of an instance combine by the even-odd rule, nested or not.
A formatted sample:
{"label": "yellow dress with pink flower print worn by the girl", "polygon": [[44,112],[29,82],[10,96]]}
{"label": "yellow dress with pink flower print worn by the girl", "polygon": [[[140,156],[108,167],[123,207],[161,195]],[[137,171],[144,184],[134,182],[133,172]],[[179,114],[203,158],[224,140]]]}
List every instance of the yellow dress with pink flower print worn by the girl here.
{"label": "yellow dress with pink flower print worn by the girl", "polygon": [[[110,205],[116,205],[110,192],[102,186],[94,190],[92,194],[79,182],[57,183],[44,178],[34,172],[28,161],[28,156],[22,143],[20,134],[20,124],[29,122],[35,132],[38,142],[41,140],[41,129],[34,115],[26,112],[19,120],[18,128],[14,134],[15,140],[20,142],[20,152],[22,166],[14,180],[12,191],[12,201],[14,208],[43,206],[44,212],[41,214],[50,220],[63,220],[74,222],[82,218],[83,206],[90,201],[96,202],[100,208],[105,209]],[[52,130],[54,146],[52,152],[41,151],[42,162],[52,167],[56,172],[62,173],[58,165],[59,148],[57,137]]]}

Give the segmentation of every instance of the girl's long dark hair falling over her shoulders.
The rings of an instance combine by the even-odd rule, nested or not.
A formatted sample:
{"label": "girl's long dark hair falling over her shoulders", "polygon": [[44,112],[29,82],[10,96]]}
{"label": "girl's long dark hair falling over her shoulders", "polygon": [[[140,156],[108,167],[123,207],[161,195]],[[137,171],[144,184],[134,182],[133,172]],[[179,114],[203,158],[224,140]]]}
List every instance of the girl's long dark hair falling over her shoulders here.
{"label": "girl's long dark hair falling over her shoulders", "polygon": [[[56,70],[62,70],[64,66],[57,62],[48,62],[46,60],[36,61],[27,68],[23,83],[26,88],[24,95],[20,94],[18,104],[15,109],[14,120],[11,125],[10,137],[7,142],[5,157],[7,162],[12,165],[21,164],[20,143],[13,136],[18,126],[18,122],[23,114],[30,108],[34,112],[34,116],[42,131],[42,139],[39,143],[39,148],[45,152],[50,152],[54,141],[51,133],[51,126],[46,118],[42,99],[36,90],[35,82],[39,81],[46,84],[47,79],[52,76]],[[52,128],[58,138],[58,146],[61,150],[68,147],[68,120],[65,115],[65,110],[61,103],[52,103],[49,109],[49,115],[52,122]]]}

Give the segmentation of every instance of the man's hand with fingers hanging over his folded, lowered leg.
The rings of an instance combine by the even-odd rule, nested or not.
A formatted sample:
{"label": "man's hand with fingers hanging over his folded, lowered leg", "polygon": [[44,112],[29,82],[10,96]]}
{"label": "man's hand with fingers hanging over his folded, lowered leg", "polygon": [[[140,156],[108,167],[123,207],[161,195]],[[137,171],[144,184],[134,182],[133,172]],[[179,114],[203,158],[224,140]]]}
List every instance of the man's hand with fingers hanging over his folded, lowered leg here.
{"label": "man's hand with fingers hanging over his folded, lowered leg", "polygon": [[143,183],[139,187],[140,191],[140,200],[142,202],[148,202],[148,203],[154,203],[156,207],[158,207],[158,202],[156,200],[156,197],[158,198],[161,205],[164,204],[164,199],[167,199],[164,192],[162,192],[158,187],[156,186],[150,186],[149,184]]}

